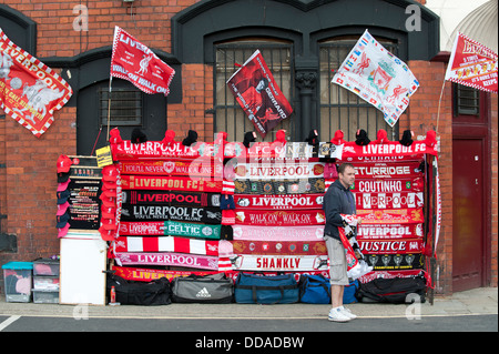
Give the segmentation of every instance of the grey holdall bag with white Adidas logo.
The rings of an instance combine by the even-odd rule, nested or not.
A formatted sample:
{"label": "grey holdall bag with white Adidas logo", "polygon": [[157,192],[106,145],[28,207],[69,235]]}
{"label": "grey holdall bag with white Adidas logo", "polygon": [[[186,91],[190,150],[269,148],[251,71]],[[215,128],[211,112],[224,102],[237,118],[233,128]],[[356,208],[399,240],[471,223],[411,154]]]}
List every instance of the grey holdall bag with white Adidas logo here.
{"label": "grey holdall bag with white Adidas logo", "polygon": [[224,273],[179,276],[172,281],[173,302],[228,304],[234,299],[234,284]]}

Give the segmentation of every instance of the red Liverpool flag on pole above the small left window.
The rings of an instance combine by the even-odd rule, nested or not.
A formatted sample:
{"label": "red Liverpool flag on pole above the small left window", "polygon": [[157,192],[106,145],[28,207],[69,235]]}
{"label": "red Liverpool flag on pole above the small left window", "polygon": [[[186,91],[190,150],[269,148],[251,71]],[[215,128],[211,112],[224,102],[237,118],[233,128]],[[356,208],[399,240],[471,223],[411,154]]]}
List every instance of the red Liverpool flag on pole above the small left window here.
{"label": "red Liverpool flag on pole above the small left window", "polygon": [[118,26],[114,27],[111,77],[129,80],[145,93],[170,93],[175,70],[151,49]]}

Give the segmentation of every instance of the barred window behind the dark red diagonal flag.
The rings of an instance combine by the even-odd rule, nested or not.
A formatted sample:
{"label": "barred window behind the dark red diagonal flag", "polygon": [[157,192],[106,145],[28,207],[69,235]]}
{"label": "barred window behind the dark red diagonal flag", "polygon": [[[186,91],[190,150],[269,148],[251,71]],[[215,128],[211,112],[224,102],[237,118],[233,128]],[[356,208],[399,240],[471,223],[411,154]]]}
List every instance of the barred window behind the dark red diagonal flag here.
{"label": "barred window behind the dark red diagonal flag", "polygon": [[[230,140],[243,141],[244,133],[256,131],[253,123],[244,113],[241,105],[227,88],[227,80],[237,71],[236,63],[242,65],[256,51],[259,50],[265,63],[271,70],[274,80],[283,94],[291,102],[293,98],[292,85],[292,55],[293,48],[289,43],[279,41],[244,40],[215,45],[216,70],[214,72],[214,131],[227,132]],[[293,134],[292,119],[282,121],[269,132],[264,141],[273,141],[275,133],[285,129],[287,135]]]}

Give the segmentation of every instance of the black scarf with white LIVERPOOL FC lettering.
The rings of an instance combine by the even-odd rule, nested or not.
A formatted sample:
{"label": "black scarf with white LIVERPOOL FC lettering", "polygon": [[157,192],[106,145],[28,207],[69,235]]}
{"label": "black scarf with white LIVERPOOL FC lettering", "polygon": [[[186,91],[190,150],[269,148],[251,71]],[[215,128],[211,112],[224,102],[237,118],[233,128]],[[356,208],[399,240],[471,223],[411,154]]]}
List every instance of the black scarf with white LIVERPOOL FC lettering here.
{"label": "black scarf with white LIVERPOOL FC lettering", "polygon": [[123,204],[121,209],[122,221],[185,221],[206,224],[220,224],[222,212],[220,208],[193,208],[160,204],[131,205]]}

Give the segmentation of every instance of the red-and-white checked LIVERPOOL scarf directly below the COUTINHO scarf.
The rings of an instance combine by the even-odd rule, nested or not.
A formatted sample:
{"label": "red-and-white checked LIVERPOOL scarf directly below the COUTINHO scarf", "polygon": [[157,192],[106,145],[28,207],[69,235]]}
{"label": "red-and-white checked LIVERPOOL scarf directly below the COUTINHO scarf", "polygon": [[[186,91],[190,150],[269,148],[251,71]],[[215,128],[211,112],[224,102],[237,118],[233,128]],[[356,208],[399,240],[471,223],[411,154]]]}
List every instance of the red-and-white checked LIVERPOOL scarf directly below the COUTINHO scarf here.
{"label": "red-and-white checked LIVERPOOL scarf directly below the COUTINHO scarf", "polygon": [[399,209],[422,208],[422,192],[399,193],[355,193],[356,205],[359,209]]}

